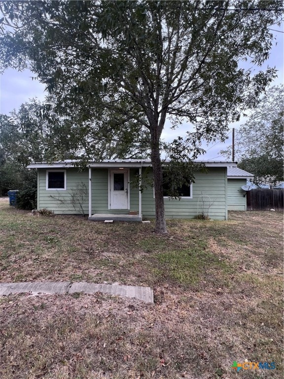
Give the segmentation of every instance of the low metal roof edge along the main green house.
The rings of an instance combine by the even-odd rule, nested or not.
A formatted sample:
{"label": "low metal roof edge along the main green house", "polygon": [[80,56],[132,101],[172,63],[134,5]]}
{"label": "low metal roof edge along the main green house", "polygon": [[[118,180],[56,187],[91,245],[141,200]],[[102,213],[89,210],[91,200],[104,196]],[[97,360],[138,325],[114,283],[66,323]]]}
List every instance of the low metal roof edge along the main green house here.
{"label": "low metal roof edge along the main green house", "polygon": [[[170,160],[164,160],[163,163],[168,163]],[[64,161],[56,162],[34,162],[28,168],[66,168],[66,167],[79,167],[79,159],[66,159]],[[204,163],[206,167],[228,167],[237,166],[234,162],[226,161],[210,161],[210,160],[195,160],[195,163]],[[151,159],[105,159],[98,162],[85,163],[87,167],[146,167],[151,166]]]}

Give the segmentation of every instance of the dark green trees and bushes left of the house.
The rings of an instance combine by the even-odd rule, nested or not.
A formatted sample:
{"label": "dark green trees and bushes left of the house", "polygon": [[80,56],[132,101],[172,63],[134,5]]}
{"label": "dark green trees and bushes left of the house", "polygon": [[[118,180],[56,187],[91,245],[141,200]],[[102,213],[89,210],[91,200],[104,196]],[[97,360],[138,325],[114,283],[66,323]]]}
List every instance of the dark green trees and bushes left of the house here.
{"label": "dark green trees and bushes left of the house", "polygon": [[54,151],[43,111],[43,104],[33,99],[18,111],[0,114],[0,195],[19,189],[17,203],[23,209],[36,205],[37,176],[27,165],[46,159],[51,148]]}

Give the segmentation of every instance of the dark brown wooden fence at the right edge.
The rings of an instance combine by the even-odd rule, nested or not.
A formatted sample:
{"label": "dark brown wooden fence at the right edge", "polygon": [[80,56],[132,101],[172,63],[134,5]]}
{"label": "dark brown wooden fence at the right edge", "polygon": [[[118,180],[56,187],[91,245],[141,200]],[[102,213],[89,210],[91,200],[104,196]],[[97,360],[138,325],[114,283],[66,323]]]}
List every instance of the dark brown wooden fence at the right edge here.
{"label": "dark brown wooden fence at the right edge", "polygon": [[247,191],[248,211],[284,210],[284,189],[257,188]]}

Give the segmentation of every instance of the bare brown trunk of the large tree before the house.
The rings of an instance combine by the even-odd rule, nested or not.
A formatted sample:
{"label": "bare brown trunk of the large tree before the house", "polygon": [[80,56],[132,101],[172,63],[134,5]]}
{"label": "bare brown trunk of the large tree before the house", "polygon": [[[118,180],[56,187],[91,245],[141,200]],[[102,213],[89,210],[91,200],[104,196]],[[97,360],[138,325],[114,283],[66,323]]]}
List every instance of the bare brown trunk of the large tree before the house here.
{"label": "bare brown trunk of the large tree before the house", "polygon": [[155,192],[155,211],[156,211],[156,226],[155,233],[167,233],[165,220],[165,206],[163,196],[163,173],[160,157],[159,141],[152,140],[151,161],[154,177],[154,192]]}

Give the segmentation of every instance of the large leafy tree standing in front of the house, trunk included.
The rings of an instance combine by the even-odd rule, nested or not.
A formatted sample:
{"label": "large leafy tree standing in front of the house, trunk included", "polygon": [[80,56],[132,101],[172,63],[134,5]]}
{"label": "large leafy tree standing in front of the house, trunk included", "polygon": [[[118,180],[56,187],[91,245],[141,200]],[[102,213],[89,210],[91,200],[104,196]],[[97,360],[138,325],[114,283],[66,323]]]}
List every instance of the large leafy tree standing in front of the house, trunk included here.
{"label": "large leafy tree standing in front of the house, trunk included", "polygon": [[[0,64],[29,67],[58,112],[106,110],[149,134],[156,232],[166,232],[160,138],[165,121],[194,131],[174,141],[190,161],[200,141],[223,139],[276,75],[242,61],[268,57],[282,1],[2,1]],[[105,125],[102,125],[104,132]],[[121,125],[123,128],[123,125]],[[181,166],[180,166],[181,168]],[[187,166],[186,175],[189,175]],[[188,179],[188,178],[187,178]]]}

